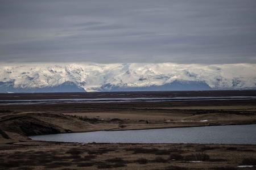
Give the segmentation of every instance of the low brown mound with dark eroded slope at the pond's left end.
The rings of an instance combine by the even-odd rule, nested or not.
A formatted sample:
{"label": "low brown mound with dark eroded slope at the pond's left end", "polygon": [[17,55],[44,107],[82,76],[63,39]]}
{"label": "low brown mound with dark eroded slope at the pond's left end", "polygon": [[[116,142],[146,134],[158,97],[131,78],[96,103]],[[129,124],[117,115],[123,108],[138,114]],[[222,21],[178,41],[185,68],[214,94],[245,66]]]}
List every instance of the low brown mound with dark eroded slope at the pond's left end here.
{"label": "low brown mound with dark eroded slope at the pond's left end", "polygon": [[24,113],[0,118],[0,138],[12,139],[8,134],[30,135],[67,133],[86,129],[90,124],[77,117],[64,114]]}

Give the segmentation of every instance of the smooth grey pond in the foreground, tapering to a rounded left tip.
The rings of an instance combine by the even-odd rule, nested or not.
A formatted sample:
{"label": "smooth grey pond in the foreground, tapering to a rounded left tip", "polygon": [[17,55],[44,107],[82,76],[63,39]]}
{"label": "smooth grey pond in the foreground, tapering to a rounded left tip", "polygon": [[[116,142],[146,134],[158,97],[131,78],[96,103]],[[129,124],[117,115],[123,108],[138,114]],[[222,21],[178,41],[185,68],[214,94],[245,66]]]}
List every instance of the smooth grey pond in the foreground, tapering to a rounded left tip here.
{"label": "smooth grey pond in the foreground, tapering to a rounded left tip", "polygon": [[39,141],[78,143],[215,143],[256,145],[256,125],[203,126],[37,135]]}

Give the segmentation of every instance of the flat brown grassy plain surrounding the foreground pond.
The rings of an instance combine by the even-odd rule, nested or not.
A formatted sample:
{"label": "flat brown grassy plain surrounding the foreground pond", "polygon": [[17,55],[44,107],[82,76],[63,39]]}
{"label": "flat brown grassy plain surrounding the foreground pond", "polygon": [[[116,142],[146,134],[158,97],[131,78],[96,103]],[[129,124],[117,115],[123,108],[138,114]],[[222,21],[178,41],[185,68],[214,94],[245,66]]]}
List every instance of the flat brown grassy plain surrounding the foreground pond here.
{"label": "flat brown grassy plain surrounding the foreground pond", "polygon": [[[174,92],[161,93],[151,96],[174,95]],[[222,92],[227,96],[234,93]],[[92,94],[86,97],[90,98]],[[200,96],[207,94],[199,93]],[[63,99],[74,94],[37,95],[40,99]],[[113,97],[109,93],[98,95]],[[150,93],[124,95],[141,97]],[[182,92],[180,95],[187,94]],[[191,92],[189,95],[195,94]],[[221,95],[221,92],[215,95]],[[255,96],[255,91],[236,96],[239,95]],[[38,97],[10,94],[0,95],[0,99],[13,100],[17,98],[15,96],[19,99]],[[75,131],[237,124],[256,124],[256,100],[0,105],[0,169],[253,169],[237,166],[255,164],[255,145],[81,145],[32,141],[27,137]]]}

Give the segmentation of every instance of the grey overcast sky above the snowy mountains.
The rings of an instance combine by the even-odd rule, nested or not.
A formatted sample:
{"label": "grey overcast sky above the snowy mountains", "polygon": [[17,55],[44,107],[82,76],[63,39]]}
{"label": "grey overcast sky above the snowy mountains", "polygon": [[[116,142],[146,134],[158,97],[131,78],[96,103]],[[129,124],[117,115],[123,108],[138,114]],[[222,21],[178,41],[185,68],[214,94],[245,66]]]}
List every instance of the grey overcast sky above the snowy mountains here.
{"label": "grey overcast sky above the snowy mountains", "polygon": [[0,62],[256,63],[256,1],[0,0]]}

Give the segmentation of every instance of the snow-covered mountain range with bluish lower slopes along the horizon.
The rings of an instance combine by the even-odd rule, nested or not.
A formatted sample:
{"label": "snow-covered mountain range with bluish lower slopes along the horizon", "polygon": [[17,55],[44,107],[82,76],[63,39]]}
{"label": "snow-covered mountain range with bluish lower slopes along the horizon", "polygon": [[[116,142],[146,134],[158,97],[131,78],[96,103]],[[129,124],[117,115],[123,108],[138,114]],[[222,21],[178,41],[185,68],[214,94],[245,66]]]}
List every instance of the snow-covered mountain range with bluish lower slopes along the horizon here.
{"label": "snow-covered mountain range with bluish lower slopes along the horizon", "polygon": [[255,89],[256,64],[5,63],[0,92]]}

